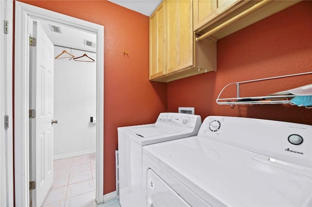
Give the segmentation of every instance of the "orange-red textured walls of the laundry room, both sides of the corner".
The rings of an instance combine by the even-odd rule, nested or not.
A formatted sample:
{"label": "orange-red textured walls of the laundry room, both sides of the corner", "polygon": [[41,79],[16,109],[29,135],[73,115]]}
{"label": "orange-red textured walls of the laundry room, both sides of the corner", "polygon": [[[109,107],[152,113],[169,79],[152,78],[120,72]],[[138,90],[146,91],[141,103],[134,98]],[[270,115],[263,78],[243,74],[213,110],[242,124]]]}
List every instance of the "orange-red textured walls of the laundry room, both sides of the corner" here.
{"label": "orange-red textured walls of the laundry room, both sides of the corner", "polygon": [[[148,81],[148,17],[109,1],[21,1],[104,26],[104,193],[116,188],[117,127],[152,123],[167,107],[177,112],[178,106],[194,106],[202,119],[224,115],[312,124],[312,109],[281,104],[231,109],[215,103],[230,82],[312,70],[312,1],[219,40],[217,72],[167,85]],[[130,51],[129,57],[124,51]],[[309,83],[312,76],[300,76],[242,87],[242,95],[265,95]]]}

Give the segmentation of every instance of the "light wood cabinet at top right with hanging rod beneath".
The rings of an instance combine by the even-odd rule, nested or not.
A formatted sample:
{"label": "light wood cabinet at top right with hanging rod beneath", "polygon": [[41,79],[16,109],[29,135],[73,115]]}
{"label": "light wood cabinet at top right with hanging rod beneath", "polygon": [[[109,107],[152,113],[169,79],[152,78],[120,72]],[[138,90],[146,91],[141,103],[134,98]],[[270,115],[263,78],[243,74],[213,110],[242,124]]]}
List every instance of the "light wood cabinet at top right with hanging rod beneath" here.
{"label": "light wood cabinet at top right with hanging rod beneath", "polygon": [[[299,1],[300,0],[193,0],[194,31],[196,34],[203,35],[215,30],[215,32],[208,37],[219,40],[292,6]],[[262,5],[251,12],[247,12],[253,9],[256,4]],[[244,14],[244,16],[235,19],[235,17],[242,14]],[[234,21],[226,24],[226,22],[231,20]]]}

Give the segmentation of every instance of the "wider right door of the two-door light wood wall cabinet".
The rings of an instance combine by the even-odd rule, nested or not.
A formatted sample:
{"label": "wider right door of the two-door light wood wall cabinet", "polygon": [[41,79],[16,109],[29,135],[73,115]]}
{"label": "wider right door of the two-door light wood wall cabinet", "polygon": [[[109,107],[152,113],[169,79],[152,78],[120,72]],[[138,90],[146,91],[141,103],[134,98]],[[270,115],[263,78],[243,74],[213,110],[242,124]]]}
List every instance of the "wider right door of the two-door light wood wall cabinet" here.
{"label": "wider right door of the two-door light wood wall cabinet", "polygon": [[193,66],[192,0],[166,0],[166,73]]}

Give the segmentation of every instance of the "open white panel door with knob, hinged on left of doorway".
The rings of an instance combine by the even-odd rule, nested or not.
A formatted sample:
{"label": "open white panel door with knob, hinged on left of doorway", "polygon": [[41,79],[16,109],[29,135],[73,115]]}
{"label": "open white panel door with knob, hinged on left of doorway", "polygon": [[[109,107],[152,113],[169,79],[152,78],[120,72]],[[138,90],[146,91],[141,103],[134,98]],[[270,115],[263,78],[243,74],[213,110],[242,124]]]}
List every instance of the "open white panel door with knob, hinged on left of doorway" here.
{"label": "open white panel door with knob, hinged on left of doorway", "polygon": [[30,180],[36,181],[31,191],[32,206],[40,207],[53,183],[53,72],[54,46],[40,22],[33,22],[36,46],[30,47]]}

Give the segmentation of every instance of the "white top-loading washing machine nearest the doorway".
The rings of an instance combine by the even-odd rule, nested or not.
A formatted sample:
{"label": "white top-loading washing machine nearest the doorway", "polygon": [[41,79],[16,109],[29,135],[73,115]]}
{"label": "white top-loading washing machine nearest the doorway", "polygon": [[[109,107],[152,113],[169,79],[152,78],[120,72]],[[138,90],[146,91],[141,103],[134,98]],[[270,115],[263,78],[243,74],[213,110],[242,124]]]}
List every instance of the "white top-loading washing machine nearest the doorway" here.
{"label": "white top-loading washing machine nearest the doorway", "polygon": [[197,135],[198,115],[160,113],[153,124],[118,127],[119,202],[122,207],[145,206],[142,146]]}

